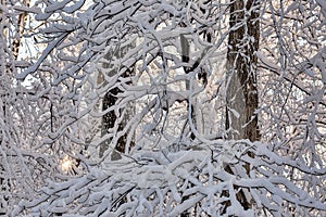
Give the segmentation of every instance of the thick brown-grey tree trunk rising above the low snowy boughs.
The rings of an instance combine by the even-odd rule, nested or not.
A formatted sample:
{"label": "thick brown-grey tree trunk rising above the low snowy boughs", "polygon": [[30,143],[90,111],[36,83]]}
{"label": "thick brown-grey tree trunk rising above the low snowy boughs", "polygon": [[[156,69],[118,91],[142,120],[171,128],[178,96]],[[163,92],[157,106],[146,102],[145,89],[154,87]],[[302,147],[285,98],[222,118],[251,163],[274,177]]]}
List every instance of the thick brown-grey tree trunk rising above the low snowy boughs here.
{"label": "thick brown-grey tree trunk rising above the low snowy boughs", "polygon": [[226,112],[229,139],[259,140],[255,113],[259,105],[255,55],[260,38],[259,15],[259,1],[234,1],[230,4]]}

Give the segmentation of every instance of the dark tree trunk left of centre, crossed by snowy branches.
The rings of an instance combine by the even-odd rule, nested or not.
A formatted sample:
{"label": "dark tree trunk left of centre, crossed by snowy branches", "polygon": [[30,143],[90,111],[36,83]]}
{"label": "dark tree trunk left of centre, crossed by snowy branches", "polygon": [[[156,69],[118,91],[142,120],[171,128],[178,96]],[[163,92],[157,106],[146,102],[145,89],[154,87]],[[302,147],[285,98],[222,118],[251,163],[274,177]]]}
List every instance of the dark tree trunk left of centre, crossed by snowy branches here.
{"label": "dark tree trunk left of centre, crossed by snowy branches", "polygon": [[[128,44],[125,48],[122,48],[115,52],[109,52],[104,59],[106,63],[103,64],[103,68],[111,68],[109,73],[106,73],[106,76],[109,77],[114,77],[116,76],[116,72],[118,68],[116,66],[112,65],[114,60],[120,60],[125,55],[130,49],[130,44]],[[113,68],[113,69],[112,69]],[[135,68],[128,68],[122,76],[121,78],[128,78],[131,77],[135,74]],[[99,81],[103,81],[102,75],[99,77]],[[120,78],[118,78],[120,80]],[[117,80],[117,82],[118,82]],[[103,84],[106,84],[104,81]],[[130,81],[127,82],[128,85]],[[113,106],[115,106],[118,103],[118,94],[123,93],[122,87],[114,86],[109,90],[109,92],[105,93],[103,100],[102,100],[102,111],[109,110],[103,117],[102,117],[102,123],[101,123],[101,137],[104,137],[106,133],[113,133],[112,137],[109,139],[104,140],[100,144],[100,150],[99,150],[99,156],[102,157],[104,155],[104,152],[109,149],[110,143],[113,141],[114,138],[117,139],[115,142],[115,148],[111,154],[112,159],[118,159],[121,158],[118,152],[124,153],[126,151],[126,143],[127,143],[127,136],[128,133],[122,133],[118,136],[118,132],[122,132],[124,130],[124,127],[127,125],[128,120],[130,119],[133,113],[134,113],[134,106],[128,104],[128,106],[125,106],[123,108],[118,110],[111,110]],[[118,113],[118,114],[117,114]],[[122,118],[121,118],[122,116]],[[117,127],[115,127],[117,126]]]}

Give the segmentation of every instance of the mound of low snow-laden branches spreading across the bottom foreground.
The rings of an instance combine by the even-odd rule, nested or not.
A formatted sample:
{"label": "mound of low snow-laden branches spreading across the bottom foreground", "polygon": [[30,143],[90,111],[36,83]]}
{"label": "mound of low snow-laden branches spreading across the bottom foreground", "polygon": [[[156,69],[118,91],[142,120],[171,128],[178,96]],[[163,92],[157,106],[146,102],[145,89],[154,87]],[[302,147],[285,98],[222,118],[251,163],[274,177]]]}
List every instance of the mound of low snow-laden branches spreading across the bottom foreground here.
{"label": "mound of low snow-laden branches spreading across the bottom foreground", "polygon": [[[300,180],[290,180],[291,171]],[[323,216],[325,175],[325,167],[311,168],[248,140],[176,152],[138,151],[80,178],[49,181],[39,197],[22,201],[12,215]],[[240,191],[253,202],[252,208],[243,209],[237,200]]]}

